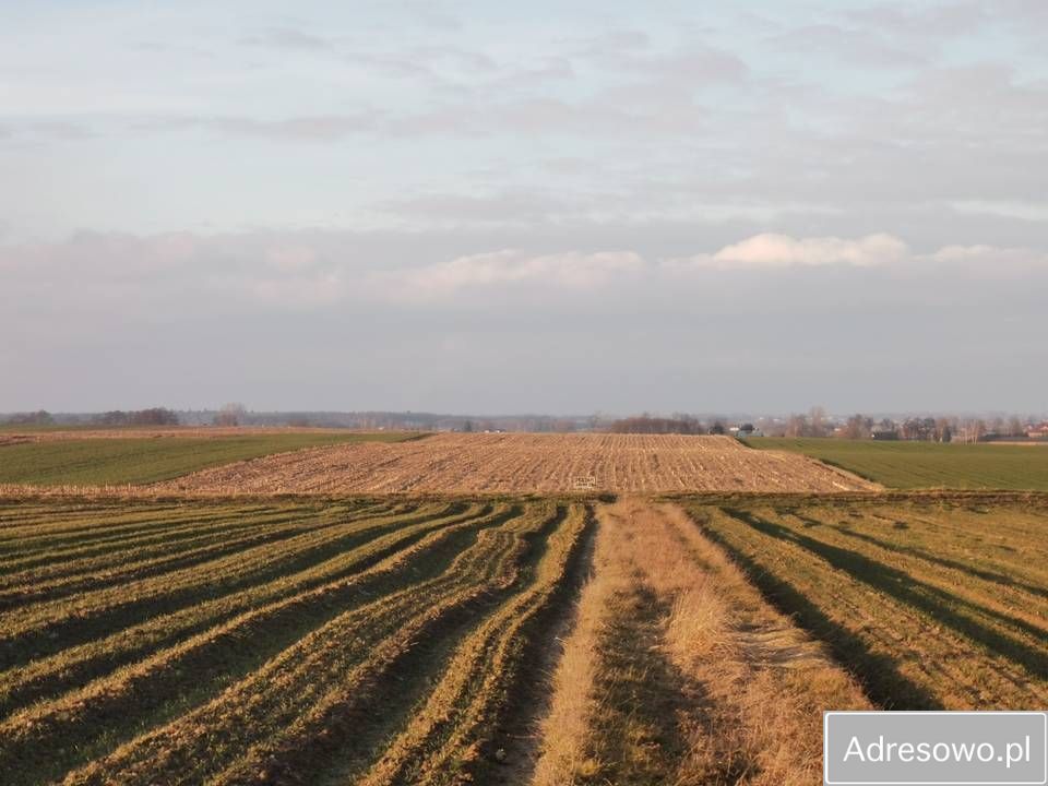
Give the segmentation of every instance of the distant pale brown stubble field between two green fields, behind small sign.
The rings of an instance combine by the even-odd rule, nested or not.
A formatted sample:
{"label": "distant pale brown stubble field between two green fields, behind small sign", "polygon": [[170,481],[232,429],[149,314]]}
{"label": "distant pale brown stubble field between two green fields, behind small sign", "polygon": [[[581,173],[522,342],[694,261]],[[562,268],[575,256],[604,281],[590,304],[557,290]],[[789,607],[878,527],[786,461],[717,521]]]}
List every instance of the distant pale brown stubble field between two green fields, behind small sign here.
{"label": "distant pale brown stubble field between two green fields, behind small sign", "polygon": [[[592,479],[592,485],[587,479]],[[563,493],[878,489],[807,456],[729,437],[437,434],[237,462],[150,487],[158,493]]]}

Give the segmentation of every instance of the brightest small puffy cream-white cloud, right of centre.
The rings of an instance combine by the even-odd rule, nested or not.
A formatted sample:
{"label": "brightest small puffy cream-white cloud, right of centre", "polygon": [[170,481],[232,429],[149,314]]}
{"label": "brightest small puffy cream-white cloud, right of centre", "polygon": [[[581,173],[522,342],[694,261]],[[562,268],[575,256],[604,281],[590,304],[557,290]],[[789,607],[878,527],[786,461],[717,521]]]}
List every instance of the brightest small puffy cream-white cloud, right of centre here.
{"label": "brightest small puffy cream-white cloud, right of centre", "polygon": [[892,264],[909,254],[906,243],[891,235],[868,235],[856,240],[838,237],[795,238],[765,233],[725,246],[712,254],[677,262],[692,267],[796,267],[847,265],[870,267]]}

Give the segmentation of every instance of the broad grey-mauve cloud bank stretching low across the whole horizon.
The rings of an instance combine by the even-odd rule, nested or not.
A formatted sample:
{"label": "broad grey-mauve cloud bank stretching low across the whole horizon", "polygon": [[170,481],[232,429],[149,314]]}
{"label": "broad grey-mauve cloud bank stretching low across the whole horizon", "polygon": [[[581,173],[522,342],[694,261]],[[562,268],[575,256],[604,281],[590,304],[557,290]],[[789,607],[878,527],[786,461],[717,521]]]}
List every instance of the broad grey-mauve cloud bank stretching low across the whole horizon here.
{"label": "broad grey-mauve cloud bank stretching low across the whole horizon", "polygon": [[0,243],[0,334],[25,337],[0,342],[0,410],[791,408],[815,389],[849,409],[1025,408],[1044,390],[1044,251],[696,229],[683,263],[632,233],[462,250],[502,234]]}

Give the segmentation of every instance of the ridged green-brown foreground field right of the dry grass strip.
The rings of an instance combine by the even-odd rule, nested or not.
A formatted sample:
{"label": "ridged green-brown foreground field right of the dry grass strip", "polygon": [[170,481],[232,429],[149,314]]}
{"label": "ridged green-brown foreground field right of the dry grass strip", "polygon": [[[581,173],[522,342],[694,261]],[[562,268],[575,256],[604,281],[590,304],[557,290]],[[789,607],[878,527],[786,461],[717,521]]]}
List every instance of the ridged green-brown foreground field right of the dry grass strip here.
{"label": "ridged green-brown foreground field right of the dry grass strip", "polygon": [[694,501],[779,610],[896,710],[1048,703],[1048,501]]}

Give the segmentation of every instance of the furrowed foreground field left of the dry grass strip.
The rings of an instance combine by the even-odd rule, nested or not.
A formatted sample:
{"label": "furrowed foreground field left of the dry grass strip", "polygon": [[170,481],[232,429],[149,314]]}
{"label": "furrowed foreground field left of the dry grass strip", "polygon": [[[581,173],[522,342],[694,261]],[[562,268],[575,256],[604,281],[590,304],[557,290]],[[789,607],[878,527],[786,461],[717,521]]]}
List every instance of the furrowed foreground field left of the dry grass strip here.
{"label": "furrowed foreground field left of the dry grass strip", "polygon": [[321,783],[392,739],[413,779],[476,767],[585,521],[534,500],[0,504],[4,783]]}

